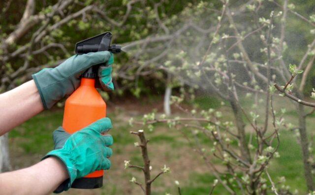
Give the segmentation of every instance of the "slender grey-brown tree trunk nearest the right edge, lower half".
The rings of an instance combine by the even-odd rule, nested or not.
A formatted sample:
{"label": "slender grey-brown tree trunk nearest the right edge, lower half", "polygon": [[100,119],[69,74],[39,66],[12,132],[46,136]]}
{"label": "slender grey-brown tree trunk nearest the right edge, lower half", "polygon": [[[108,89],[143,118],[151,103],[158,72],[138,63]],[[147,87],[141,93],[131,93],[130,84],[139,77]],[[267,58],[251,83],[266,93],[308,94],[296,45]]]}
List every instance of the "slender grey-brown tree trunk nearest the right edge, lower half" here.
{"label": "slender grey-brown tree trunk nearest the right edge, lower half", "polygon": [[[299,97],[302,99],[302,97]],[[309,162],[310,153],[309,153],[309,140],[306,132],[306,120],[304,105],[298,104],[298,114],[299,114],[299,131],[301,138],[301,148],[302,148],[302,158],[304,164],[304,175],[306,179],[307,188],[309,191],[314,191],[314,181],[312,176],[312,167]]]}

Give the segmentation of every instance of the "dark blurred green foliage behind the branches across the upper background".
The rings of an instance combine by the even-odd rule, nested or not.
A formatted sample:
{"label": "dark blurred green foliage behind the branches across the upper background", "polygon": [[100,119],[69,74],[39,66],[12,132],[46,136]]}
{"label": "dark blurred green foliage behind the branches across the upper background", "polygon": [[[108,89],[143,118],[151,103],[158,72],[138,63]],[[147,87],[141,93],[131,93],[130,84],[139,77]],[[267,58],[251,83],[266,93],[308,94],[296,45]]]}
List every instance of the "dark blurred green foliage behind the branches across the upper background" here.
{"label": "dark blurred green foliage behind the branches across the upper background", "polygon": [[[8,6],[9,2],[10,4]],[[1,18],[5,18],[5,20],[0,21],[0,39],[5,40],[8,35],[17,28],[24,13],[26,2],[26,0],[14,2],[4,0],[0,2],[0,8],[6,9],[5,12],[1,14]],[[101,11],[101,14],[87,12],[86,14],[79,15],[43,36],[37,44],[34,44],[33,50],[38,50],[51,43],[61,44],[64,48],[61,48],[61,45],[56,45],[49,47],[45,53],[37,52],[37,54],[29,55],[28,58],[31,59],[32,63],[30,63],[28,67],[29,71],[27,71],[27,75],[25,74],[26,72],[23,72],[24,74],[20,73],[19,76],[14,78],[3,79],[3,77],[9,76],[19,67],[23,66],[26,58],[25,52],[21,52],[20,55],[14,56],[7,61],[2,61],[0,69],[2,76],[2,91],[17,86],[30,79],[30,74],[39,70],[39,68],[36,69],[34,67],[39,66],[41,68],[43,65],[54,66],[56,63],[59,64],[60,60],[73,55],[74,45],[80,40],[106,31],[111,31],[113,33],[113,43],[123,45],[134,43],[137,40],[144,40],[148,37],[164,36],[167,33],[165,33],[163,28],[158,25],[158,20],[162,21],[164,26],[167,27],[169,34],[176,32],[183,27],[185,23],[189,23],[190,20],[199,25],[199,27],[208,29],[209,27],[214,26],[218,14],[216,10],[221,6],[219,0],[205,1],[203,4],[200,3],[200,0],[135,1],[131,4],[132,8],[130,9],[130,13],[126,16],[128,10],[127,4],[130,2],[131,1],[128,0],[109,0],[106,2],[101,0],[87,0],[80,2],[79,0],[76,0],[75,3],[72,3],[67,9],[63,10],[63,16],[61,16],[62,14],[57,14],[52,17],[51,25],[48,25],[48,27],[60,22],[64,17],[71,15],[76,11],[80,11],[83,7],[92,4],[97,7],[97,11],[95,12]],[[47,14],[51,11],[52,5],[55,3],[57,3],[57,0],[38,1],[34,12],[39,15]],[[246,3],[248,3],[246,0],[231,0],[230,5],[231,7],[239,7]],[[155,6],[157,6],[157,4],[158,16],[155,12]],[[314,12],[314,3],[312,0],[296,0],[294,1],[294,7],[294,10],[303,16],[311,15],[312,12]],[[264,3],[263,8],[259,10],[258,14],[268,17],[270,11],[275,9],[279,9],[275,3],[266,2]],[[239,22],[238,25],[240,31],[249,32],[254,30],[254,27],[251,24],[253,19],[250,11],[235,15],[235,20]],[[301,22],[301,20],[293,14],[288,14],[288,21],[289,22],[286,23],[287,38],[285,41],[287,45],[295,45],[295,47],[288,47],[284,52],[283,58],[291,62],[291,64],[294,64],[298,63],[299,59],[302,58],[303,52],[306,50],[305,45],[311,41],[314,34],[309,33],[310,30],[312,30],[312,26],[306,22]],[[40,26],[41,24],[36,23],[35,26],[36,25]],[[276,26],[276,28],[279,30],[279,26]],[[225,29],[226,33],[229,31],[228,26],[223,26],[222,29]],[[24,33],[17,41],[9,44],[5,49],[2,48],[0,54],[5,56],[7,53],[14,52],[17,49],[30,44],[30,39],[36,30],[36,28],[30,29],[30,31]],[[189,31],[187,31],[187,33],[189,33]],[[209,32],[210,36],[211,33],[213,33],[213,31]],[[193,32],[191,32],[191,35],[184,34],[183,36],[184,38],[180,38],[178,41],[183,42],[186,40],[187,43],[191,43],[191,41],[197,43],[201,38],[198,34]],[[244,42],[247,47],[246,49],[250,51],[253,61],[262,62],[265,60],[265,57],[261,55],[261,51],[259,50],[261,48],[259,39],[253,37],[246,39]],[[187,46],[189,45],[187,44]],[[159,65],[165,63],[165,59],[168,59],[168,57],[174,53],[179,53],[181,49],[183,48],[176,45],[176,43],[173,43],[168,56],[159,59],[157,62],[151,63],[148,67],[157,69]],[[140,53],[137,53],[135,50],[141,50],[139,45],[138,47],[133,47],[130,54],[123,53],[117,55],[115,58],[114,71],[116,73],[114,73],[114,76],[116,77],[115,82],[117,88],[115,93],[122,95],[123,92],[127,90],[137,94],[139,90],[141,90],[141,92],[146,92],[146,95],[148,95],[148,93],[152,93],[152,88],[163,90],[165,87],[166,75],[163,74],[164,71],[161,70],[145,74],[146,77],[140,77],[140,81],[136,84],[134,82],[129,82],[136,79],[135,77],[137,77],[137,74],[135,71],[137,71],[139,65],[142,65],[146,60],[152,59],[154,56],[160,54],[158,51],[149,53],[145,50],[141,50],[141,52],[139,51]],[[198,54],[188,55],[188,58],[195,58],[191,60],[191,62],[200,59],[200,56],[204,54],[205,50],[206,47],[200,47]],[[305,88],[306,92],[312,89],[311,83],[314,81],[313,68],[311,75],[312,76],[308,77],[309,82],[307,82],[307,87]],[[143,82],[145,82],[145,85]],[[140,89],[136,90],[135,88]]]}

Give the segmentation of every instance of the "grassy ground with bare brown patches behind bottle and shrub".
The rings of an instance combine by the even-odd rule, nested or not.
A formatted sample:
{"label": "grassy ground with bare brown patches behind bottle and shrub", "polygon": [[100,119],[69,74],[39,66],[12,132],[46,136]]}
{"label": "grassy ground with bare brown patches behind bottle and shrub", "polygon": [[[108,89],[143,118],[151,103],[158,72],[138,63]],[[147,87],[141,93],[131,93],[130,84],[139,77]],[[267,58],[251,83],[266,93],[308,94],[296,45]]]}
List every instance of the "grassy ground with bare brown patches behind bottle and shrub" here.
{"label": "grassy ground with bare brown patches behind bottle and shrub", "polygon": [[[248,106],[251,105],[251,101],[252,98],[242,99],[242,102]],[[136,131],[143,127],[130,127],[128,120],[130,117],[139,118],[139,116],[152,111],[152,109],[157,109],[157,112],[161,113],[163,110],[162,97],[141,100],[129,99],[120,102],[108,103],[108,116],[113,120],[114,125],[114,129],[110,132],[114,137],[114,145],[112,146],[114,155],[111,158],[112,166],[110,170],[105,171],[103,188],[89,191],[71,189],[64,194],[141,194],[140,188],[129,182],[134,176],[137,181],[143,183],[141,172],[136,169],[124,169],[124,161],[130,160],[132,164],[142,164],[140,149],[134,147],[133,144],[138,141],[137,137],[130,134],[129,131]],[[196,102],[199,104],[199,107],[205,109],[209,107],[218,108],[223,112],[223,116],[226,119],[233,119],[227,106],[221,106],[217,98],[198,97]],[[293,124],[296,122],[297,114],[290,101],[279,99],[276,107],[278,109],[286,107],[286,120]],[[175,110],[175,115],[178,114],[177,112]],[[30,166],[40,161],[53,148],[52,131],[61,125],[62,118],[62,109],[56,108],[53,111],[45,111],[10,133],[10,155],[13,169]],[[312,130],[312,118],[308,120],[310,130]],[[180,182],[183,195],[209,194],[215,177],[178,130],[170,130],[163,125],[158,125],[152,132],[147,129],[144,130],[147,138],[150,139],[149,155],[153,166],[152,175],[157,174],[164,164],[171,169],[171,173],[162,175],[154,182],[152,187],[154,195],[165,195],[165,193],[178,194],[177,186],[174,184],[175,180]],[[289,130],[281,131],[281,145],[279,148],[281,158],[273,160],[268,171],[275,182],[278,181],[278,177],[285,176],[285,184],[289,185],[292,191],[297,189],[299,193],[305,194],[306,185],[303,177],[303,164],[300,146],[297,141],[294,132]],[[207,145],[209,141],[204,139],[203,144]],[[221,165],[218,164],[218,168],[221,168]],[[225,193],[221,185],[215,188],[215,195]]]}

